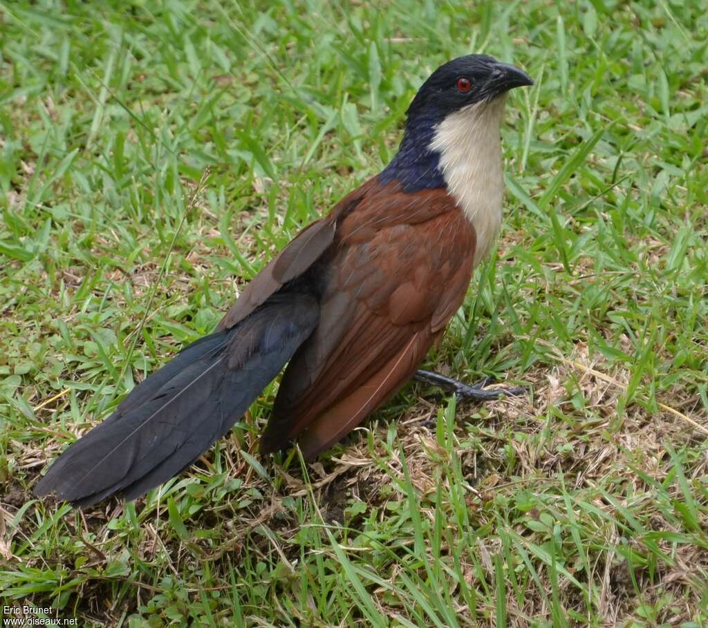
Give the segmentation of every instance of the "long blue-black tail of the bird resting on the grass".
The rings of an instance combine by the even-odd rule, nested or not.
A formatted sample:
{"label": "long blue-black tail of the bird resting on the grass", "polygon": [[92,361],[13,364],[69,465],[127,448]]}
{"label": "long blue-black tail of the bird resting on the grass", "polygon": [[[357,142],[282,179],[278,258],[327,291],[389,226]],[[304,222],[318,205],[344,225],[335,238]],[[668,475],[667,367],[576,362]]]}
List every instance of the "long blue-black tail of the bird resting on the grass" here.
{"label": "long blue-black tail of the bird resting on the grass", "polygon": [[193,342],[64,451],[35,494],[90,506],[165,482],[227,434],[318,320],[311,296],[275,294],[232,329]]}

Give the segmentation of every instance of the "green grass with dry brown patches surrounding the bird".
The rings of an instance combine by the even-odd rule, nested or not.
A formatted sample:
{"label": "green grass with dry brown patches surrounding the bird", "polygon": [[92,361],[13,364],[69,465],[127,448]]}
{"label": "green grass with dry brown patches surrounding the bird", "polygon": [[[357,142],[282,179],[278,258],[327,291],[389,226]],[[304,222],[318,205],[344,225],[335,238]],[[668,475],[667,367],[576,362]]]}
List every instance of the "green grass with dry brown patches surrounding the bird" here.
{"label": "green grass with dry brown patches surrounding the bird", "polygon": [[[0,31],[2,605],[135,628],[708,624],[702,3],[18,0]],[[273,384],[146,499],[34,499],[471,51],[537,86],[508,106],[498,246],[426,366],[532,393],[409,386],[303,465],[254,453]]]}

